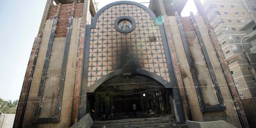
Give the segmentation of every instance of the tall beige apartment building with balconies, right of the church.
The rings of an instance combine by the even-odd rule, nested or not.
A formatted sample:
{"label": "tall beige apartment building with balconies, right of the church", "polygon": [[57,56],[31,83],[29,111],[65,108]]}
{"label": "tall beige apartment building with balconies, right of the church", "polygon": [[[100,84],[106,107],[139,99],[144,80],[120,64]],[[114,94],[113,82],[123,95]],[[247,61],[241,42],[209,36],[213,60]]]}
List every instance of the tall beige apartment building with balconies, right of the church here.
{"label": "tall beige apartment building with balconies, right of the church", "polygon": [[256,97],[255,77],[245,58],[252,45],[244,38],[246,33],[240,31],[240,28],[255,17],[256,1],[205,0],[203,6],[229,64],[240,97]]}

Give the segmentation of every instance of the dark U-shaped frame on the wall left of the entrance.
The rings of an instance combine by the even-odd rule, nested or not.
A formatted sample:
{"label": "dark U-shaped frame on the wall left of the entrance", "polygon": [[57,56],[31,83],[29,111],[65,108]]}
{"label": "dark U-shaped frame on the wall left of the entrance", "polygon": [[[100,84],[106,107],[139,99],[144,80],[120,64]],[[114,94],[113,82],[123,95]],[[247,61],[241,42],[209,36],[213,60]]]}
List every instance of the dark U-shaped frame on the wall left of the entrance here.
{"label": "dark U-shaped frame on the wall left of the entrance", "polygon": [[[51,55],[51,49],[52,49],[52,44],[53,44],[53,39],[54,39],[54,34],[55,34],[56,27],[57,27],[57,23],[58,23],[58,16],[55,16],[52,32],[50,34],[49,44],[47,47],[45,64],[43,66],[43,73],[42,73],[42,78],[41,78],[41,82],[40,82],[40,88],[38,91],[38,100],[40,100],[40,101],[42,101],[42,97],[43,97],[44,84],[45,84],[46,75],[47,75],[46,73],[48,70],[49,59],[50,59],[50,55]],[[67,36],[66,36],[66,43],[65,43],[65,47],[64,47],[61,76],[60,76],[60,82],[59,82],[59,90],[58,90],[58,95],[57,95],[57,100],[59,100],[59,102],[57,102],[56,106],[55,106],[55,116],[54,117],[39,117],[40,116],[40,105],[41,105],[41,102],[40,102],[36,105],[33,123],[58,123],[59,122],[59,117],[60,117],[60,113],[61,113],[63,89],[64,89],[64,81],[65,81],[66,68],[67,68],[68,50],[69,50],[70,36],[71,36],[71,30],[72,30],[72,28],[71,28],[72,23],[73,23],[73,14],[71,14],[69,16],[68,30],[67,30]]]}

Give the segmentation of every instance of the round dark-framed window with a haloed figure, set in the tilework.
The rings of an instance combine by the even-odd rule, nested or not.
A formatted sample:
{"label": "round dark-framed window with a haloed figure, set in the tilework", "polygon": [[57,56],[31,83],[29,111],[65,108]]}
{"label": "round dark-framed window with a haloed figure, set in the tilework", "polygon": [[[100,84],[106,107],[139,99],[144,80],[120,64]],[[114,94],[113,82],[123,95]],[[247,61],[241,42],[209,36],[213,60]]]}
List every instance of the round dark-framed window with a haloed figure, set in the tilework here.
{"label": "round dark-framed window with a haloed figure, set in the tilework", "polygon": [[129,16],[121,16],[115,21],[115,28],[121,33],[129,33],[135,28],[135,21]]}

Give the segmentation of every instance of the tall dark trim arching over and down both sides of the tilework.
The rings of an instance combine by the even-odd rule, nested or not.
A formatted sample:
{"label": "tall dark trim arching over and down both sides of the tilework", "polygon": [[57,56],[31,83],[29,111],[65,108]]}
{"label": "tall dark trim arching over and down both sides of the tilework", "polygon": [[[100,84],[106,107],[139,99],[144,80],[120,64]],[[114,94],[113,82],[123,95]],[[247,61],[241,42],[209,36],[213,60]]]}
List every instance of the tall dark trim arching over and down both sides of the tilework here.
{"label": "tall dark trim arching over and down both sides of the tilework", "polygon": [[[165,35],[165,31],[164,31],[164,27],[162,21],[157,20],[156,15],[150,10],[148,9],[146,6],[137,3],[137,2],[132,2],[132,1],[117,1],[117,2],[113,2],[111,4],[108,4],[106,6],[104,6],[103,8],[101,8],[94,16],[92,24],[91,25],[87,25],[86,26],[86,33],[85,33],[85,42],[84,42],[84,53],[83,53],[83,69],[82,69],[82,82],[81,82],[81,86],[80,86],[80,99],[79,99],[79,113],[78,113],[78,119],[81,119],[83,116],[85,116],[86,114],[86,94],[87,94],[87,83],[88,83],[88,66],[89,66],[89,49],[90,49],[90,32],[91,32],[91,28],[95,28],[96,27],[96,21],[98,20],[98,17],[100,16],[100,14],[108,9],[111,6],[114,5],[118,5],[118,4],[132,4],[132,5],[136,5],[141,7],[142,9],[144,9],[145,11],[148,12],[148,14],[150,14],[151,18],[153,19],[153,22],[155,25],[159,25],[160,27],[160,32],[161,32],[161,36],[162,36],[162,40],[163,40],[163,46],[164,46],[164,52],[166,53],[166,61],[167,61],[167,68],[169,71],[169,76],[171,81],[173,82],[168,82],[169,84],[167,84],[166,86],[168,87],[176,87],[173,88],[173,95],[174,95],[174,100],[176,102],[176,109],[178,112],[178,116],[180,117],[180,123],[184,124],[185,121],[185,116],[184,116],[184,112],[183,112],[183,107],[182,107],[182,101],[181,101],[181,96],[179,94],[179,90],[177,88],[177,81],[176,81],[176,76],[174,74],[174,70],[173,70],[173,65],[172,65],[172,59],[171,59],[171,55],[170,55],[170,51],[169,51],[169,46],[168,46],[168,42],[167,42],[167,38]],[[174,82],[176,81],[176,82]]]}

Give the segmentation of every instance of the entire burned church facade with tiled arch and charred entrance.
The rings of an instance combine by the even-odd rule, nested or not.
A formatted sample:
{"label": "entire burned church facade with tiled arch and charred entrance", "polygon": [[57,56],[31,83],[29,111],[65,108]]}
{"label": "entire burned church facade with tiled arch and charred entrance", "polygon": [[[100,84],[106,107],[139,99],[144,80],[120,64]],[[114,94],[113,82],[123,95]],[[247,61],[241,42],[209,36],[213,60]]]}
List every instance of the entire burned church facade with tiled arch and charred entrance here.
{"label": "entire burned church facade with tiled arch and charred entrance", "polygon": [[129,116],[133,103],[137,112],[174,114],[178,124],[248,127],[204,14],[179,16],[186,0],[173,11],[163,4],[172,0],[152,0],[150,8],[119,1],[98,12],[93,0],[52,2],[31,52],[15,128],[71,127],[87,113],[115,119]]}

